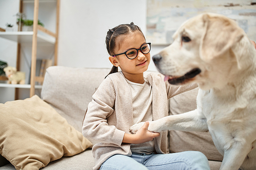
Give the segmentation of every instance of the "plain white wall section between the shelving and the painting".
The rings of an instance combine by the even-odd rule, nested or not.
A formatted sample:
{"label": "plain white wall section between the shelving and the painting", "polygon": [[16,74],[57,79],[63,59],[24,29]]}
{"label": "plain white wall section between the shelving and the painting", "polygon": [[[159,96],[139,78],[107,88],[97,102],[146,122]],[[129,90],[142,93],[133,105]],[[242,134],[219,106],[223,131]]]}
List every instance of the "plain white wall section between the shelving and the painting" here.
{"label": "plain white wall section between the shelving and the painting", "polygon": [[[112,67],[106,33],[132,21],[146,32],[146,0],[61,1],[58,65]],[[149,69],[155,70],[153,62]]]}

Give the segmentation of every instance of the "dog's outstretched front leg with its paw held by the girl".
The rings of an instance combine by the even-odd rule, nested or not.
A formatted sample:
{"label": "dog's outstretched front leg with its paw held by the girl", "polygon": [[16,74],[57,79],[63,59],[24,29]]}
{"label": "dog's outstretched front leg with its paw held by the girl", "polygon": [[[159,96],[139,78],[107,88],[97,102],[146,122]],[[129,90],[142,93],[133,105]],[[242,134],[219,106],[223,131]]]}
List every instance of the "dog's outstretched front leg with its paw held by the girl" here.
{"label": "dog's outstretched front leg with its paw held by the girl", "polygon": [[[136,133],[144,123],[135,124],[130,128],[131,133]],[[180,130],[180,131],[200,131],[208,130],[206,118],[198,114],[197,109],[178,115],[170,115],[160,118],[155,121],[150,121],[150,126],[147,128],[151,132],[161,132],[165,130]]]}

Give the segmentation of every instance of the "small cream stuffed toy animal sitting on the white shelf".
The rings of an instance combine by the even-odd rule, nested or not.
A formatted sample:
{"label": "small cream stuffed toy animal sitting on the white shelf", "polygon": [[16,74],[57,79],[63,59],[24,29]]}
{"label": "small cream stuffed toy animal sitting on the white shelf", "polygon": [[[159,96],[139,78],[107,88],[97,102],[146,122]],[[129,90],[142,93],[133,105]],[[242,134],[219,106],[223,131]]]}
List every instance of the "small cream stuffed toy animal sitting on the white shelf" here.
{"label": "small cream stuffed toy animal sitting on the white shelf", "polygon": [[17,71],[15,67],[7,66],[4,68],[8,84],[25,84],[25,72]]}

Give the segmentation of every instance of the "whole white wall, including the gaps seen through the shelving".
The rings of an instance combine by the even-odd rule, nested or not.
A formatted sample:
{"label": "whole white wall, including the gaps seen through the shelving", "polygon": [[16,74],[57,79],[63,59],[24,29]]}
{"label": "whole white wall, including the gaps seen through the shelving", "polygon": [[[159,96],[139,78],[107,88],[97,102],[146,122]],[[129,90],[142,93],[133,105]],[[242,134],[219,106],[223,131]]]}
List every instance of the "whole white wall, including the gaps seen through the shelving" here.
{"label": "whole white wall, including the gaps seen through the shelving", "polygon": [[[145,33],[146,3],[146,0],[60,0],[58,65],[111,68],[105,47],[106,33],[121,23],[132,21]],[[27,19],[33,19],[33,11],[29,6],[33,4],[26,4],[24,12],[27,14]],[[55,4],[51,3],[48,5],[39,3],[38,14],[45,27],[53,32],[55,32],[55,18],[51,11],[55,10],[54,6]],[[18,12],[18,7],[19,0],[0,0],[0,27],[5,28],[6,22],[16,22],[16,17],[13,15]],[[50,22],[47,18],[53,18],[53,21],[51,19]],[[16,24],[14,27],[17,30]],[[153,46],[151,55],[158,53],[163,47]],[[16,49],[17,43],[0,38],[0,60],[16,66],[16,61],[13,60],[16,59]],[[52,48],[40,49],[37,48],[39,58],[44,58],[53,51]],[[27,72],[28,79],[28,64],[31,62],[30,45],[22,46],[21,58],[23,61],[21,71]],[[156,70],[153,62],[149,70]],[[40,91],[36,92],[40,94]],[[28,97],[29,90],[21,89],[20,99]],[[14,100],[14,89],[0,87],[0,103],[12,100]]]}

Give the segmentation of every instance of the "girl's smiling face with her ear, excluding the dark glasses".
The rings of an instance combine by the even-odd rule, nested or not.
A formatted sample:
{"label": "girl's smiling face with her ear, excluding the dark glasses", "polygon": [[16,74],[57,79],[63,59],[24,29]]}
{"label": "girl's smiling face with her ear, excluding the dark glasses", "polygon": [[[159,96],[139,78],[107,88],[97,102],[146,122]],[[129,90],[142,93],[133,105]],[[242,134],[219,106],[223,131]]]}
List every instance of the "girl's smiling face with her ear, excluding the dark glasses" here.
{"label": "girl's smiling face with her ear, excluding the dark glasses", "polygon": [[[146,43],[144,36],[140,31],[135,31],[130,34],[120,37],[118,44],[115,48],[115,54],[124,53],[125,51],[131,48],[140,48],[142,44]],[[148,65],[150,64],[150,53],[143,54],[141,51],[138,51],[138,55],[135,59],[128,59],[125,54],[112,57],[109,59],[113,65],[120,67],[123,75],[126,79],[143,83],[143,72],[147,70]]]}

